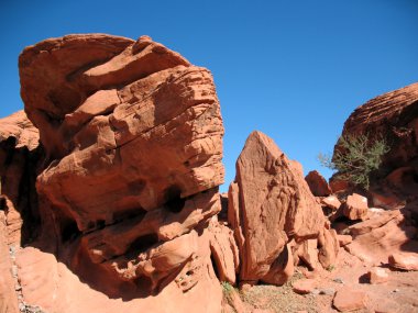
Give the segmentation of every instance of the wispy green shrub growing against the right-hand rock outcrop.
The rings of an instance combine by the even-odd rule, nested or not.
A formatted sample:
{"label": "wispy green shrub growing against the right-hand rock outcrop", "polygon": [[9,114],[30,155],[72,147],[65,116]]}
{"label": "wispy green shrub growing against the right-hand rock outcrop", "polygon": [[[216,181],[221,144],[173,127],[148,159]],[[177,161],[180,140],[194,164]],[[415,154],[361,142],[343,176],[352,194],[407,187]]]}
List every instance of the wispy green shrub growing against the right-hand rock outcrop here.
{"label": "wispy green shrub growing against the right-hand rock outcrop", "polygon": [[380,168],[382,156],[389,148],[384,139],[371,142],[366,135],[341,136],[333,157],[319,154],[318,160],[322,166],[338,170],[339,177],[355,186],[369,189],[370,175]]}

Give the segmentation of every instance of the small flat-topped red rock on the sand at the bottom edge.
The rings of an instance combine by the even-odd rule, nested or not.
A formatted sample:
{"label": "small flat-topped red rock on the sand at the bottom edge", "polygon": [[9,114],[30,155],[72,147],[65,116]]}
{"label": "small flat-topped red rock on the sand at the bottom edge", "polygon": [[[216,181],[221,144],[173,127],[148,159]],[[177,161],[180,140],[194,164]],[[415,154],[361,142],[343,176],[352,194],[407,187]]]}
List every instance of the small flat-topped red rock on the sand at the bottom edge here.
{"label": "small flat-topped red rock on the sand at the bottom edge", "polygon": [[340,312],[350,312],[366,308],[366,294],[349,287],[337,291],[333,298],[333,306]]}

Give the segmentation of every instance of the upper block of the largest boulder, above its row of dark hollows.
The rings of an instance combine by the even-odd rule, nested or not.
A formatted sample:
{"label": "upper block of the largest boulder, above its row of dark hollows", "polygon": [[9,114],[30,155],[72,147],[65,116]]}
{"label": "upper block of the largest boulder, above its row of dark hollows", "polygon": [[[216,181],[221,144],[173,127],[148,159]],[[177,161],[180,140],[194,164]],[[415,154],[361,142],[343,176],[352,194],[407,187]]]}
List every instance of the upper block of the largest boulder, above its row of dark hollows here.
{"label": "upper block of the largest boulder, above its row of dark hollows", "polygon": [[61,159],[37,190],[82,232],[223,182],[210,72],[145,42],[136,51],[127,38],[74,35],[20,56],[25,111]]}

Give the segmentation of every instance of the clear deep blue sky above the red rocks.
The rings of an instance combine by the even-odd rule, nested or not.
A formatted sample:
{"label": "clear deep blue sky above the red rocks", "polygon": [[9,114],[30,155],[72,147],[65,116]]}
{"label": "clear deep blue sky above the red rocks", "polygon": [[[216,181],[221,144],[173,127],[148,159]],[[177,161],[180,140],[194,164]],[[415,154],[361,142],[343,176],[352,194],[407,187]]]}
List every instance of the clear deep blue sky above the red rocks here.
{"label": "clear deep blue sky above the red rocks", "polygon": [[226,191],[246,136],[273,137],[305,174],[345,119],[418,81],[418,0],[0,0],[0,116],[23,108],[18,56],[70,33],[143,34],[215,77],[226,127]]}

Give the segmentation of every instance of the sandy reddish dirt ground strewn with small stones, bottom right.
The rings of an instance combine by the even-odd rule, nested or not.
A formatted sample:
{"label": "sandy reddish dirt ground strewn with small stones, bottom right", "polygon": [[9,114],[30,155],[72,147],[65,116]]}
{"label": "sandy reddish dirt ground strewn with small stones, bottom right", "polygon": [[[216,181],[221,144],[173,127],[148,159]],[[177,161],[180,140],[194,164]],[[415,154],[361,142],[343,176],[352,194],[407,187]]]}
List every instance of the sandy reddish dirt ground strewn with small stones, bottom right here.
{"label": "sandy reddish dirt ground strewn with small stones, bottom right", "polygon": [[[332,306],[334,292],[342,287],[351,287],[364,291],[367,295],[366,309],[352,312],[418,312],[418,271],[395,271],[387,268],[389,280],[381,284],[371,284],[365,278],[371,268],[371,265],[362,262],[342,248],[332,270],[304,275],[307,270],[298,267],[294,278],[282,287],[254,286],[240,291],[240,294],[244,302],[256,309],[290,313],[298,311],[328,313],[338,312]],[[317,281],[317,288],[309,294],[295,293],[293,283],[306,276]]]}

